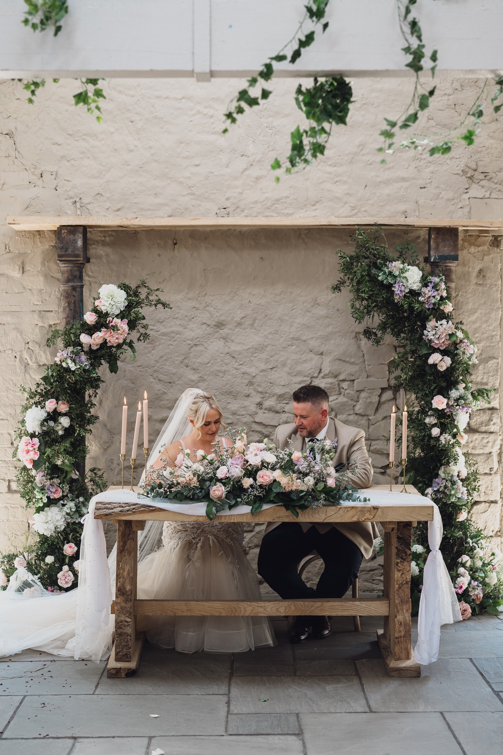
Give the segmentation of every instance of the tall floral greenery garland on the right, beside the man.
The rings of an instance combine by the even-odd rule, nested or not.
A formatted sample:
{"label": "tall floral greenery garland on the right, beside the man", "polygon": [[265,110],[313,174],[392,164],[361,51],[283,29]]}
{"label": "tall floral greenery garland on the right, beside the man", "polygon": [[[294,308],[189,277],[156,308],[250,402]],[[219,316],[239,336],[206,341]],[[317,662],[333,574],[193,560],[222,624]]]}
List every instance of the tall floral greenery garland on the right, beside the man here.
{"label": "tall floral greenery garland on the right, beside the man", "polygon": [[[352,242],[351,254],[339,249],[341,277],[332,290],[348,288],[351,315],[366,323],[367,341],[378,346],[389,335],[397,342],[393,390],[403,387],[409,396],[406,482],[440,507],[443,557],[465,613],[498,613],[503,605],[501,553],[486,547],[482,530],[468,519],[479,477],[474,460],[462,453],[471,412],[490,402],[491,390],[471,385],[477,347],[462,322],[449,319],[452,304],[444,277],[428,274],[412,245],[399,245],[391,254],[379,227],[370,232],[357,228]],[[428,547],[426,522],[419,522],[414,536],[417,605],[421,554]]]}

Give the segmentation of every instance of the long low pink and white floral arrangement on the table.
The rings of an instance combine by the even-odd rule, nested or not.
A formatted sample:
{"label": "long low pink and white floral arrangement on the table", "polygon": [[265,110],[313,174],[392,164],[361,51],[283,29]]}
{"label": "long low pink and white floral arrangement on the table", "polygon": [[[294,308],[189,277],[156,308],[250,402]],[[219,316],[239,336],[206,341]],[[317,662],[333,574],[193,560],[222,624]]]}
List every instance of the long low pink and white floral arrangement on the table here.
{"label": "long low pink and white floral arrangement on the table", "polygon": [[308,451],[278,451],[266,438],[263,443],[247,445],[245,430],[228,432],[234,445],[207,455],[195,449],[197,461],[186,449],[174,467],[150,467],[144,484],[148,498],[170,498],[180,503],[207,502],[206,515],[214,519],[219,511],[250,506],[252,514],[264,504],[281,504],[293,516],[299,511],[321,506],[336,506],[344,501],[367,501],[351,485],[351,472],[336,472],[331,466],[336,442],[319,440]]}

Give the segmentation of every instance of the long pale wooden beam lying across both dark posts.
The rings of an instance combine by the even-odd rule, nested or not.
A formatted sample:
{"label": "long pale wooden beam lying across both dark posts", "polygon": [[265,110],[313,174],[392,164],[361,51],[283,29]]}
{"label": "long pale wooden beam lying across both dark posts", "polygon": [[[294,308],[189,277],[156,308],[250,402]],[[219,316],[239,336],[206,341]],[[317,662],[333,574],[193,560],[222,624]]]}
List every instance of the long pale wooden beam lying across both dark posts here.
{"label": "long pale wooden beam lying across both dark posts", "polygon": [[500,230],[503,220],[459,220],[420,217],[8,217],[7,223],[19,231],[51,231],[62,226],[80,226],[90,230],[230,230],[246,228],[458,228],[465,230]]}

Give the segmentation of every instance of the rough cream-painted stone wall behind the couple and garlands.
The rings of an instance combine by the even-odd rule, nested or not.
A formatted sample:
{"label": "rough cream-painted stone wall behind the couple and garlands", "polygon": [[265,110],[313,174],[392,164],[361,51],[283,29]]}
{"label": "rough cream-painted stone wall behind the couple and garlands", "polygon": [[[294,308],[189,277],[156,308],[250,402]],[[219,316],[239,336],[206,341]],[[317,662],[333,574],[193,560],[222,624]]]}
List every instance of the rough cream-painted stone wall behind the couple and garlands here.
{"label": "rough cream-painted stone wall behind the couple and garlands", "polygon": [[[469,106],[477,81],[441,80],[431,129],[449,124],[452,107]],[[299,215],[339,217],[468,217],[474,197],[502,196],[501,130],[488,117],[471,149],[448,159],[401,153],[379,165],[374,152],[382,116],[400,112],[410,82],[358,79],[348,127],[336,129],[327,156],[304,173],[272,181],[268,164],[282,157],[299,122],[294,85],[247,114],[227,137],[221,113],[238,82],[115,80],[106,90],[105,119],[97,125],[72,107],[75,82],[50,85],[28,106],[19,85],[0,84],[0,223],[15,214],[82,213],[144,216]],[[385,103],[383,106],[382,103]],[[385,111],[384,108],[385,107]],[[330,393],[342,421],[363,427],[376,467],[386,464],[382,435],[391,408],[387,363],[393,348],[363,341],[335,297],[338,247],[346,231],[90,232],[86,304],[103,282],[149,274],[173,310],[152,313],[152,341],[107,375],[90,437],[90,464],[118,475],[119,406],[149,390],[152,436],[179,393],[191,384],[212,390],[231,424],[247,424],[254,438],[290,419],[290,395],[305,381]],[[390,244],[405,233],[389,233]],[[424,233],[409,233],[420,255]],[[480,344],[479,379],[499,386],[499,252],[491,237],[466,237],[459,263],[459,309]],[[0,227],[2,270],[2,473],[0,550],[26,533],[11,460],[21,404],[19,384],[32,384],[48,361],[44,341],[60,322],[60,273],[54,233],[15,233]],[[498,404],[494,405],[496,408]],[[498,411],[480,413],[471,443],[483,485],[475,516],[501,535]],[[376,477],[382,482],[382,476]],[[256,557],[259,533],[247,535]],[[376,587],[378,565],[367,582]],[[376,568],[374,568],[376,567]]]}

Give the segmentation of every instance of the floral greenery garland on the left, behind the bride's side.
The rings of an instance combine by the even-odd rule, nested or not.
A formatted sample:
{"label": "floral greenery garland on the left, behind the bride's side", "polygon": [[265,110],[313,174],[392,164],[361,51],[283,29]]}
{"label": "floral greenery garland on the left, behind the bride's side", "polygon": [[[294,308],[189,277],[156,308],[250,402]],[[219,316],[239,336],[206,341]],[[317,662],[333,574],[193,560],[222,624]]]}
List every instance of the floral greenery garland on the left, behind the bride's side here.
{"label": "floral greenery garland on the left, behind the bride's side", "polygon": [[[17,483],[26,508],[35,510],[31,529],[38,533],[23,553],[0,559],[0,587],[18,567],[29,565],[48,590],[67,590],[78,582],[81,516],[90,498],[106,488],[101,470],[83,473],[85,436],[98,417],[93,414],[103,377],[102,365],[118,371],[127,351],[135,359],[136,342],[148,341],[149,325],[143,310],[170,307],[145,280],[135,286],[124,281],[103,285],[100,298],[79,322],[54,328],[47,345],[61,348],[35,387],[26,393],[23,417],[17,427],[14,458],[23,462]],[[76,559],[75,559],[76,556]]]}

